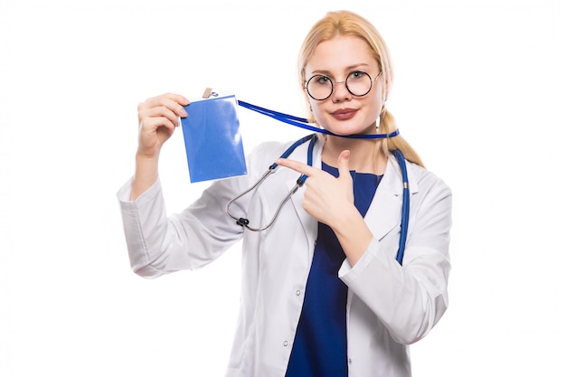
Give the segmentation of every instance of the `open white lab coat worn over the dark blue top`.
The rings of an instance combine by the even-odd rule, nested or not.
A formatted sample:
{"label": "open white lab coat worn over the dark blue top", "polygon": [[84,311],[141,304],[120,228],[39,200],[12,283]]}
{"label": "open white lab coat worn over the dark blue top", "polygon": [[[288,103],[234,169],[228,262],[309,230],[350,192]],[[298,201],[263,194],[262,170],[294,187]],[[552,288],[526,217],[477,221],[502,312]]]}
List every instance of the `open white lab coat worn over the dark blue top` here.
{"label": "open white lab coat worn over the dark blue top", "polygon": [[[314,152],[317,167],[320,145]],[[199,269],[243,236],[241,310],[229,377],[283,377],[295,338],[317,232],[317,221],[301,206],[306,188],[292,196],[267,231],[244,231],[224,213],[226,203],[255,183],[287,146],[260,145],[248,157],[248,175],[215,182],[169,218],[159,182],[135,202],[128,201],[130,182],[118,192],[131,266],[143,277]],[[289,158],[307,161],[307,143]],[[403,185],[391,157],[365,215],[373,240],[354,267],[346,259],[338,273],[348,287],[350,377],[409,377],[408,344],[427,335],[448,306],[451,193],[420,166],[407,168],[410,224],[403,266],[395,260]],[[250,219],[251,226],[264,225],[297,177],[279,167],[231,212]]]}

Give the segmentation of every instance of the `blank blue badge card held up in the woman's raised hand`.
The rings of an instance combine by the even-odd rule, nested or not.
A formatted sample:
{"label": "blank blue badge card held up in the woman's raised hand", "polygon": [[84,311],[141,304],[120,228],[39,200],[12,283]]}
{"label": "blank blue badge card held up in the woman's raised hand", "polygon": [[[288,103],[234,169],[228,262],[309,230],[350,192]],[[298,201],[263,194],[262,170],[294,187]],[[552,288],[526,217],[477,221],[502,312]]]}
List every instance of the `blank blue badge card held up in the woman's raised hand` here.
{"label": "blank blue badge card held up in the woman's raised hand", "polygon": [[248,174],[235,96],[215,97],[185,106],[181,118],[191,182]]}

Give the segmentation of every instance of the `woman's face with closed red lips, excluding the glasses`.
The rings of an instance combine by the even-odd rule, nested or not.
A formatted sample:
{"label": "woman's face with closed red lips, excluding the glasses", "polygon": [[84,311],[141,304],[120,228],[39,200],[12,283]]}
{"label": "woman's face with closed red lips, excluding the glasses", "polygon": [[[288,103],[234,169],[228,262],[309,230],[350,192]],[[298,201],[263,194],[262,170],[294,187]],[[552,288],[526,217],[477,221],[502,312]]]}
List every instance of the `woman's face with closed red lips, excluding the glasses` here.
{"label": "woman's face with closed red lips, excluding the glasses", "polygon": [[[316,74],[323,74],[334,83],[334,90],[327,99],[312,99],[307,90],[305,95],[318,124],[337,135],[376,132],[375,122],[382,108],[382,76],[373,81],[372,89],[365,96],[356,97],[346,89],[344,83],[348,77],[352,77],[349,84],[354,83],[355,78],[360,76],[356,71],[366,72],[372,79],[380,73],[370,46],[354,36],[337,36],[321,42],[305,67],[307,80]],[[324,83],[323,80],[321,84]]]}

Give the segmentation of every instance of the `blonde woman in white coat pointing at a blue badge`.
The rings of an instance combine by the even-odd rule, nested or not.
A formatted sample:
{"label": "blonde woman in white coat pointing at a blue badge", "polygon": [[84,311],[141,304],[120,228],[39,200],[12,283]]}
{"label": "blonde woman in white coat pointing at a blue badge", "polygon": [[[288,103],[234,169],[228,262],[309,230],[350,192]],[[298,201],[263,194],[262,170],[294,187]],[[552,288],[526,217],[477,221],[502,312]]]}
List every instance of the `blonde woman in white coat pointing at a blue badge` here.
{"label": "blonde woman in white coat pointing at a blue badge", "polygon": [[[300,56],[300,84],[311,120],[330,131],[278,159],[288,144],[265,143],[249,156],[249,174],[215,182],[184,212],[165,215],[158,180],[161,146],[188,100],[176,94],[138,107],[134,177],[118,192],[132,268],[146,278],[198,269],[243,237],[241,313],[228,376],[410,376],[409,344],[448,306],[451,193],[422,167],[385,108],[391,61],[372,24],[329,13],[311,29]],[[403,183],[391,151],[407,159],[410,216],[402,266]],[[307,174],[266,231],[223,215],[265,166],[279,167],[232,212],[268,222],[281,198]]]}

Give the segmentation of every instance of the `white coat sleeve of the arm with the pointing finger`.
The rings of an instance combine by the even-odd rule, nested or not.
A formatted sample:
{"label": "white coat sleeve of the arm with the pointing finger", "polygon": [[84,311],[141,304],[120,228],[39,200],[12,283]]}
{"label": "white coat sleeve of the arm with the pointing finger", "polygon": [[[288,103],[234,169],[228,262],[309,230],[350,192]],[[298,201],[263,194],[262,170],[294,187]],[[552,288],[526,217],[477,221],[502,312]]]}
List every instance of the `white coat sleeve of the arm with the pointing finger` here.
{"label": "white coat sleeve of the arm with the pointing finger", "polygon": [[451,203],[448,186],[438,179],[418,201],[411,200],[410,211],[416,215],[411,218],[402,267],[380,240],[373,239],[354,267],[346,259],[339,271],[354,295],[401,344],[427,335],[448,307]]}

